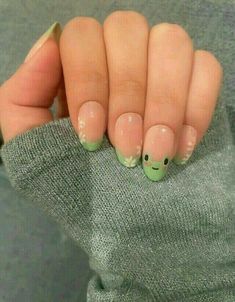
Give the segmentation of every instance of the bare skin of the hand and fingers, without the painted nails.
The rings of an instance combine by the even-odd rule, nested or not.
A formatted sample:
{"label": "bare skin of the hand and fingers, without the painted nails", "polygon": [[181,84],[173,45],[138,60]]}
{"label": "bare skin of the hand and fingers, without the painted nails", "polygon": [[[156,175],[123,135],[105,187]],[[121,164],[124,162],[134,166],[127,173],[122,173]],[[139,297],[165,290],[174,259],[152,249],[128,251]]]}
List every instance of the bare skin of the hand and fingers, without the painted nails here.
{"label": "bare skin of the hand and fingers, without the painted nails", "polygon": [[177,24],[150,28],[135,11],[115,11],[103,24],[76,17],[65,25],[59,45],[48,40],[2,84],[3,139],[7,142],[53,120],[49,108],[60,95],[57,117],[70,116],[77,132],[80,106],[97,100],[105,110],[113,146],[115,122],[126,112],[143,118],[143,142],[146,131],[161,123],[174,131],[175,146],[182,124],[193,126],[198,144],[209,127],[222,74],[218,59],[195,50],[188,33]]}

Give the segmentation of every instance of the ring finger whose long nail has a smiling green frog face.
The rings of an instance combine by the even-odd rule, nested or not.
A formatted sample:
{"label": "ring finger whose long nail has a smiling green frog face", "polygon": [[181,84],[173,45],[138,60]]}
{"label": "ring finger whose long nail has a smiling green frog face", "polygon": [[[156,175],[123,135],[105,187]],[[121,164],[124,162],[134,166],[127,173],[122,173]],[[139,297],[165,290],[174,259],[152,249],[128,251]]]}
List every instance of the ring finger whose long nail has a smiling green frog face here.
{"label": "ring finger whose long nail has a smiling green frog face", "polygon": [[176,24],[150,32],[144,117],[143,168],[148,178],[164,177],[182,127],[193,63],[193,44]]}

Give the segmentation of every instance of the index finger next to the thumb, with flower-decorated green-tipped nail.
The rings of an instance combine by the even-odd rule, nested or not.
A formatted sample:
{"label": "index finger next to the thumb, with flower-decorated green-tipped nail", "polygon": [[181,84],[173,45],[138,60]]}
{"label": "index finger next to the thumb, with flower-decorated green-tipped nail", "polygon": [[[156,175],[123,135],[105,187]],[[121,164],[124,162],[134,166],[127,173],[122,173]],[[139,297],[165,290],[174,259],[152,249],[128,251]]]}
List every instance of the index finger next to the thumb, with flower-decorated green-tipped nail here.
{"label": "index finger next to the thumb, with flower-decorated green-tipped nail", "polygon": [[76,17],[60,39],[68,109],[80,142],[89,151],[100,147],[106,130],[108,72],[102,26]]}

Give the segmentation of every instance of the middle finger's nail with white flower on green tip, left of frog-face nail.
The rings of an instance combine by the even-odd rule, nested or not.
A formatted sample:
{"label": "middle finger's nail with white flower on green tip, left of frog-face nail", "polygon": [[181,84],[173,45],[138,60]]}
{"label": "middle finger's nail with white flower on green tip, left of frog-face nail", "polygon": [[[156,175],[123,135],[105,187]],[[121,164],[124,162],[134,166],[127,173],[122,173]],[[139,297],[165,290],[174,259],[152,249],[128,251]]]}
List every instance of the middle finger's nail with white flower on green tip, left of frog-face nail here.
{"label": "middle finger's nail with white flower on green tip, left of frog-face nail", "polygon": [[135,167],[142,150],[143,121],[138,113],[124,113],[116,121],[114,136],[117,158],[126,167]]}

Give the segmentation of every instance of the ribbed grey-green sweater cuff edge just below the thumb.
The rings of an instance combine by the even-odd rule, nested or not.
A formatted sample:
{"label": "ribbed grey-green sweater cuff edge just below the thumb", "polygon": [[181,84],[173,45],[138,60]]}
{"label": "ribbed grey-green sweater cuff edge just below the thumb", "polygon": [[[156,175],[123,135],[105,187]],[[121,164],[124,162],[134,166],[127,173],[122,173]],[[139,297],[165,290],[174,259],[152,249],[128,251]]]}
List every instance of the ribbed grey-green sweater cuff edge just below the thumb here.
{"label": "ribbed grey-green sweater cuff edge just below the thumb", "polygon": [[[104,141],[107,142],[106,137]],[[1,146],[0,156],[10,178],[20,178],[22,171],[44,166],[44,163],[48,166],[57,158],[61,160],[68,156],[68,153],[70,156],[77,155],[80,147],[79,137],[70,118],[63,118],[13,137]]]}

